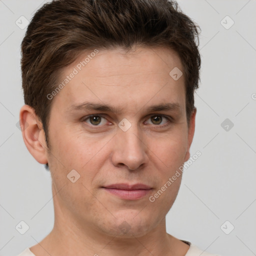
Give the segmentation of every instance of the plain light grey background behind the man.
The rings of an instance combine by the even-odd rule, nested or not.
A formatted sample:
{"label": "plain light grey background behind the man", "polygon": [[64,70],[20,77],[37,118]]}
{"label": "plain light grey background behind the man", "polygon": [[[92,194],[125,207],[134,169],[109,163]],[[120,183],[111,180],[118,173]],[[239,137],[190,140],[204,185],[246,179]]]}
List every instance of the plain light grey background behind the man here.
{"label": "plain light grey background behind the man", "polygon": [[[201,27],[201,83],[190,152],[202,154],[183,174],[167,232],[212,253],[256,255],[256,1],[178,3]],[[21,252],[53,226],[49,172],[29,154],[16,127],[23,104],[19,50],[25,29],[15,21],[21,15],[30,20],[42,4],[0,0],[1,255]],[[229,29],[220,23],[226,15],[234,21]],[[231,24],[228,18],[222,22]],[[221,126],[226,118],[234,124],[228,131]],[[20,220],[29,225],[23,235],[15,229]],[[229,234],[220,228],[226,220],[234,226]]]}

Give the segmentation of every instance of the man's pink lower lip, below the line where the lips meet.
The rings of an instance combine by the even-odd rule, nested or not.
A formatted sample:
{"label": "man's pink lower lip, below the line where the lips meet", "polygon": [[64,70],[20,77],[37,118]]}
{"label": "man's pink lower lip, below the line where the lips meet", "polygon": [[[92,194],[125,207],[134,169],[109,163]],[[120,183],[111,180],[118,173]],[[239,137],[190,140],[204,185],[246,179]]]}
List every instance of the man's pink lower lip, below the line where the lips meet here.
{"label": "man's pink lower lip, below the line where the lips meet", "polygon": [[122,190],[116,188],[105,188],[111,194],[114,194],[122,199],[136,200],[145,196],[151,189],[136,189],[136,190]]}

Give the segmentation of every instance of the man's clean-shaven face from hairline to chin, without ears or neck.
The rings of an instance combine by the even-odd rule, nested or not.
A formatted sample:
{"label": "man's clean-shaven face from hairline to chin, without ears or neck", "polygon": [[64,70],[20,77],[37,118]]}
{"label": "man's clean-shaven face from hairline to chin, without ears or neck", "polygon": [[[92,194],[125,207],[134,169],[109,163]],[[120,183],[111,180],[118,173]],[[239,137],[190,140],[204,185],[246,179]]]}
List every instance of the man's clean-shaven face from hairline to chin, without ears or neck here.
{"label": "man's clean-shaven face from hairline to chin, without ears or neck", "polygon": [[[52,99],[47,159],[59,191],[55,214],[79,228],[140,236],[164,222],[181,175],[161,187],[189,158],[184,76],[169,75],[182,65],[165,48],[99,49],[80,66],[88,54],[62,71],[61,81],[77,73]],[[149,189],[127,191],[117,183]]]}

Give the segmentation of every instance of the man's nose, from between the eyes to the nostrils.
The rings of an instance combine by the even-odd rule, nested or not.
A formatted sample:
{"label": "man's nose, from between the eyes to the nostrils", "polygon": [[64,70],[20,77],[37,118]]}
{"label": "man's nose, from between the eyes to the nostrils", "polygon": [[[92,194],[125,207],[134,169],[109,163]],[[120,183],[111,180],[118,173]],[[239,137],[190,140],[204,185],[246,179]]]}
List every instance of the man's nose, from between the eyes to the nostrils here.
{"label": "man's nose, from between the eyes to the nostrils", "polygon": [[114,166],[125,165],[128,169],[135,170],[146,163],[146,143],[135,125],[126,131],[118,128],[113,144],[111,161]]}

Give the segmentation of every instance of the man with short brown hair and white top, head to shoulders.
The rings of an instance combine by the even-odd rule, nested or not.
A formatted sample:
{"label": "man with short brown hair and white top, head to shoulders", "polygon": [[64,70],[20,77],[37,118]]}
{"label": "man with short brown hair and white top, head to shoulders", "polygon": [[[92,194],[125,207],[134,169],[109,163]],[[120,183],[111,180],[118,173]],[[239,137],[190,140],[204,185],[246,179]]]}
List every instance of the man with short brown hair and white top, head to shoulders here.
{"label": "man with short brown hair and white top, head to shoulders", "polygon": [[194,134],[197,35],[167,0],[55,0],[35,13],[20,126],[51,173],[55,220],[20,255],[210,255],[165,229]]}

